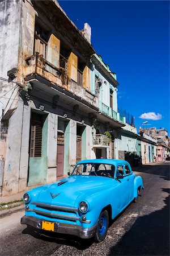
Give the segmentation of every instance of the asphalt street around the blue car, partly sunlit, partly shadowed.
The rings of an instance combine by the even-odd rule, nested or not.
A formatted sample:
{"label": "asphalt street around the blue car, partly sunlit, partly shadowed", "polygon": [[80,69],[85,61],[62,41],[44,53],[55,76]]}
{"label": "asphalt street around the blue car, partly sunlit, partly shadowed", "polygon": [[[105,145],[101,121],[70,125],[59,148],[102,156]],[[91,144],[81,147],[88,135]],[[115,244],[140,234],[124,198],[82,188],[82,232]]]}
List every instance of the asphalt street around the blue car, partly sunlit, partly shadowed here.
{"label": "asphalt street around the blue car, partly sunlit, partly shadowed", "polygon": [[112,222],[101,243],[38,234],[20,225],[24,212],[0,220],[0,255],[169,255],[169,163],[136,168],[145,190]]}

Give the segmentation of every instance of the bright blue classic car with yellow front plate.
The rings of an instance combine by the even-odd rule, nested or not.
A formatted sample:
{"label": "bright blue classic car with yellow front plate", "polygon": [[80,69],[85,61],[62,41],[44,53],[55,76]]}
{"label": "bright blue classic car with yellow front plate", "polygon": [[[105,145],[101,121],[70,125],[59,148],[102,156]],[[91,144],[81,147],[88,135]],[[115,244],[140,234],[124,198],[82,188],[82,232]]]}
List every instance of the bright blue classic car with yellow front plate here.
{"label": "bright blue classic car with yellow front plate", "polygon": [[24,194],[22,224],[101,242],[109,221],[143,189],[141,176],[124,160],[82,160],[68,175]]}

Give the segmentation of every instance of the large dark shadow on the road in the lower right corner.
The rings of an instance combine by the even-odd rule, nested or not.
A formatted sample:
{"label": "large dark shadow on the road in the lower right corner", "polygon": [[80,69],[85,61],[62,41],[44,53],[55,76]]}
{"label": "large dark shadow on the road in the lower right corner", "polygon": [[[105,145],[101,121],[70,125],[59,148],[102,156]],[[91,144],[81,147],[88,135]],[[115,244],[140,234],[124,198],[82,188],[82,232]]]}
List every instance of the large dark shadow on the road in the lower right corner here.
{"label": "large dark shadow on the road in the lower right corner", "polygon": [[109,255],[169,255],[169,196],[164,203],[163,209],[139,217]]}

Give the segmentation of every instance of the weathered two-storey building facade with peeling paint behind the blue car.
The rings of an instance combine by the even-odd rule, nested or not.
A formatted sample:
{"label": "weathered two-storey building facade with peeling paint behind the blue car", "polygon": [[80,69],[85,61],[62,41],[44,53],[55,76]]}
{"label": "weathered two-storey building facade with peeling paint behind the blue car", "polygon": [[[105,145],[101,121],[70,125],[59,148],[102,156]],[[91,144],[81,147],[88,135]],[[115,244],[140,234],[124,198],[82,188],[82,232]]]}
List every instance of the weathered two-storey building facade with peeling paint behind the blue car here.
{"label": "weathered two-storey building facade with peeling paint behind the blue car", "polygon": [[[57,1],[2,1],[1,10],[2,195],[61,179],[81,159],[114,157],[104,131],[125,126],[118,82],[91,57],[90,26],[79,31]],[[108,113],[95,67],[113,93]]]}

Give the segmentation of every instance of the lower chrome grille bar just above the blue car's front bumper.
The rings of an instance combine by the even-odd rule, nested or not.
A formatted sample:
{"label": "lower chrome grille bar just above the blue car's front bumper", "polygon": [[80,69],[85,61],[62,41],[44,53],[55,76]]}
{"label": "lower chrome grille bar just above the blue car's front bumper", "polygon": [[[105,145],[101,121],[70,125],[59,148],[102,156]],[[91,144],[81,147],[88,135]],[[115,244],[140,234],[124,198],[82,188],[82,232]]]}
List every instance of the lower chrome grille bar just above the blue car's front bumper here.
{"label": "lower chrome grille bar just above the blue car's front bumper", "polygon": [[90,224],[91,221],[90,220],[86,220],[86,221],[83,221],[81,218],[79,217],[72,217],[72,216],[67,216],[67,215],[61,215],[61,214],[56,214],[56,213],[51,213],[51,212],[43,212],[42,210],[37,210],[37,209],[25,209],[25,212],[35,212],[37,214],[40,214],[40,215],[45,215],[45,216],[50,216],[50,217],[58,217],[58,218],[65,218],[66,220],[78,220],[80,221],[81,223],[86,223],[86,224]]}

